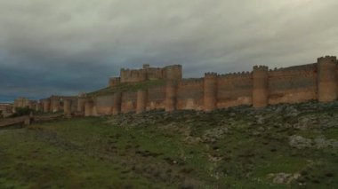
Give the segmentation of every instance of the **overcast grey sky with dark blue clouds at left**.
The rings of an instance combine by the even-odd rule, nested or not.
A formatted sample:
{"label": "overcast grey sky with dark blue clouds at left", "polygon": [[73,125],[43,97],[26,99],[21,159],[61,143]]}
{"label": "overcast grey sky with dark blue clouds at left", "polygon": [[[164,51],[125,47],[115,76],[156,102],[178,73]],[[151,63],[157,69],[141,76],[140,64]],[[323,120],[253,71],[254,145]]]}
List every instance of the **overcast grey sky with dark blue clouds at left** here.
{"label": "overcast grey sky with dark blue clouds at left", "polygon": [[0,101],[106,87],[122,67],[202,77],[338,55],[337,0],[0,0]]}

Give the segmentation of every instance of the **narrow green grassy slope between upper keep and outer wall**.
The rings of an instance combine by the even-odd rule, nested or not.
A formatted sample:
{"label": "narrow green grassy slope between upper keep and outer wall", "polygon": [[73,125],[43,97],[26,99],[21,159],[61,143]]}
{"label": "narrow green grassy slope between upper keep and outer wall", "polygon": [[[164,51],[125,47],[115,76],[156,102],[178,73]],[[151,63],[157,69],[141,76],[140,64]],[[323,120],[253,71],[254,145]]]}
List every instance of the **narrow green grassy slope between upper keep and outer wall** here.
{"label": "narrow green grassy slope between upper keep and outer wall", "polygon": [[118,83],[116,86],[107,87],[99,91],[93,91],[87,93],[88,97],[104,96],[109,94],[114,94],[116,92],[123,91],[138,91],[141,89],[148,89],[151,87],[163,86],[165,85],[165,80],[149,80],[138,83]]}

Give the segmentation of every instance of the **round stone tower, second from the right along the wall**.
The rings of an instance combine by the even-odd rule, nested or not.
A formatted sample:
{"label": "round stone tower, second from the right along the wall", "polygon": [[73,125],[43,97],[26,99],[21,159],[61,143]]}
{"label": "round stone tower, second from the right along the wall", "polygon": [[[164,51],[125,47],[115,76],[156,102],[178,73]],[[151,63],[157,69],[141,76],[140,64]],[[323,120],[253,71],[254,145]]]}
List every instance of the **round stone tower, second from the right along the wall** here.
{"label": "round stone tower, second from the right along the wall", "polygon": [[268,106],[269,85],[268,75],[269,67],[254,66],[253,72],[253,106]]}

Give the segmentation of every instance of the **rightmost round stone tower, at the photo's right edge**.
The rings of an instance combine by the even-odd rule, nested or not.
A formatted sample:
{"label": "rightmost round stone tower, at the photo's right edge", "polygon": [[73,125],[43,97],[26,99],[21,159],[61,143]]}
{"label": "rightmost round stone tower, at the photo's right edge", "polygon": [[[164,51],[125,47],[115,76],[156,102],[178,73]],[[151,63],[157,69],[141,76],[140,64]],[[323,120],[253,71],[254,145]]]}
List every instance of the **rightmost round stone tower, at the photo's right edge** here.
{"label": "rightmost round stone tower, at the photo's right edge", "polygon": [[318,58],[318,101],[330,102],[337,99],[337,58]]}

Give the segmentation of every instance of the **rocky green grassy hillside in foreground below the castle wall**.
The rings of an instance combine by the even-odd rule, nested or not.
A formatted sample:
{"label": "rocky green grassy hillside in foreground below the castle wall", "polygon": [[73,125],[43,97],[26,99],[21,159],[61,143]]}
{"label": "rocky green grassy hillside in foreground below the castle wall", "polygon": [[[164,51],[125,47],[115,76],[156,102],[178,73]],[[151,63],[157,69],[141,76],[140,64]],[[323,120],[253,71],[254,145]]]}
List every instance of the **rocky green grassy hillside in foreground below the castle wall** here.
{"label": "rocky green grassy hillside in foreground below the castle wall", "polygon": [[0,130],[0,188],[338,188],[338,103]]}

